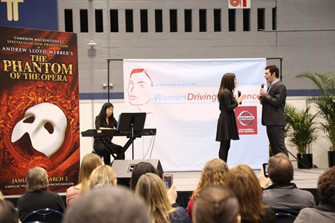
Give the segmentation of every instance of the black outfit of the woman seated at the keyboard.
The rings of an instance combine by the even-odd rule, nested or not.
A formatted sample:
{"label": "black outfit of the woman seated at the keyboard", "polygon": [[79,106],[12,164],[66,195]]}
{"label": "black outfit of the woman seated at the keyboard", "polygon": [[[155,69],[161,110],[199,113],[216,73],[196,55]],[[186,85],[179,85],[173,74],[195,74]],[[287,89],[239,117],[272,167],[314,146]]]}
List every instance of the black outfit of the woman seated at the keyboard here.
{"label": "black outfit of the woman seated at the keyboard", "polygon": [[[103,123],[101,123],[99,116],[96,116],[96,129],[99,128],[116,128],[117,127],[117,120],[113,117],[113,120],[109,121],[109,125],[107,124],[107,122],[104,120]],[[122,146],[119,146],[117,144],[113,144],[112,143],[112,138],[113,137],[106,137],[108,143],[110,144],[110,146],[113,148],[113,151],[121,151]],[[106,165],[110,165],[110,152],[108,152],[105,148],[105,146],[103,146],[103,144],[101,143],[101,141],[99,141],[99,139],[94,139],[94,145],[93,145],[94,151],[96,151],[96,153],[98,153],[98,155],[103,156],[103,162],[105,162]],[[120,157],[117,157],[116,159],[119,160],[124,160],[124,154],[121,154]]]}

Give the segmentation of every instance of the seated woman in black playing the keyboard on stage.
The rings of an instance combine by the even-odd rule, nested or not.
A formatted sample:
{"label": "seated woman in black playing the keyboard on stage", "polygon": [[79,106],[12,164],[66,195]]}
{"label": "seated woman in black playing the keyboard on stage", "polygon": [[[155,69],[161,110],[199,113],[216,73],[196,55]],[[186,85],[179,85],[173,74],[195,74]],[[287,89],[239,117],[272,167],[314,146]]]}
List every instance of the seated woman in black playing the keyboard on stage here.
{"label": "seated woman in black playing the keyboard on stage", "polygon": [[[114,106],[112,103],[107,102],[103,104],[103,107],[101,108],[101,112],[96,116],[96,129],[103,129],[103,128],[117,128],[117,120],[114,118],[113,114]],[[119,146],[117,144],[112,143],[113,137],[106,137],[108,143],[113,148],[113,151],[119,153],[121,151],[122,146]],[[110,165],[110,152],[108,152],[99,141],[99,139],[94,139],[94,145],[93,145],[94,151],[98,153],[98,155],[103,156],[103,162],[105,162],[106,165]],[[119,160],[124,160],[124,153],[121,154]]]}

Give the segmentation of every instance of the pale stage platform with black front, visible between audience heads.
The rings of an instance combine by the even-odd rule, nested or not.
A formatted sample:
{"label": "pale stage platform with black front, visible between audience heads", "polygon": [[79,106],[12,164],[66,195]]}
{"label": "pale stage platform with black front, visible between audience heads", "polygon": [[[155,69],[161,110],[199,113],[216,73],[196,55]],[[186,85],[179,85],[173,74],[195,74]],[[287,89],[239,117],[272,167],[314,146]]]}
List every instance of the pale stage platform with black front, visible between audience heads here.
{"label": "pale stage platform with black front, visible between audience heads", "polygon": [[[260,174],[260,170],[254,171],[256,176]],[[318,187],[318,178],[324,171],[323,168],[295,169],[295,179],[292,183],[295,183],[299,189],[311,192],[315,197],[315,202],[318,203],[316,188]],[[172,174],[178,192],[177,203],[186,208],[193,190],[197,188],[201,171],[172,172]]]}

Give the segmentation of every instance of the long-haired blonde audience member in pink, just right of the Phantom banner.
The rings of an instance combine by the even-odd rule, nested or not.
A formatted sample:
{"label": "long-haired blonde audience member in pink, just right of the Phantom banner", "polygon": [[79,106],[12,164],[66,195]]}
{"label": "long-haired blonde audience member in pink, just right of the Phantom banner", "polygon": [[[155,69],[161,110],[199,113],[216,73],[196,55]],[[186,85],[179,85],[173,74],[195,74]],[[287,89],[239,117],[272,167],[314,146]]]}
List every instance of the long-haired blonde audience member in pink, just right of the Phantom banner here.
{"label": "long-haired blonde audience member in pink, just right of the Phantom banner", "polygon": [[69,187],[66,190],[66,205],[70,206],[80,194],[89,190],[89,176],[96,167],[103,164],[101,157],[94,153],[89,153],[82,158],[82,164],[80,166],[78,184]]}

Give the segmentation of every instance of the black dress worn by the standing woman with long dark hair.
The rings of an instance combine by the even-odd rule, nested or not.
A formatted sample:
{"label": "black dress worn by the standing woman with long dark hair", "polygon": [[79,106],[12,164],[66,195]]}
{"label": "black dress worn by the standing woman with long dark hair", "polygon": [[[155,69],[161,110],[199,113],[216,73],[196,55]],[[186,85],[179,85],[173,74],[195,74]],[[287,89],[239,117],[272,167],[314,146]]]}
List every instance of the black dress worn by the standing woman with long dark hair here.
{"label": "black dress worn by the standing woman with long dark hair", "polygon": [[221,111],[218,116],[218,126],[216,129],[216,141],[239,139],[237,123],[234,113],[234,108],[237,107],[237,102],[232,102],[232,92],[228,89],[223,91],[223,95],[218,99],[219,109]]}

